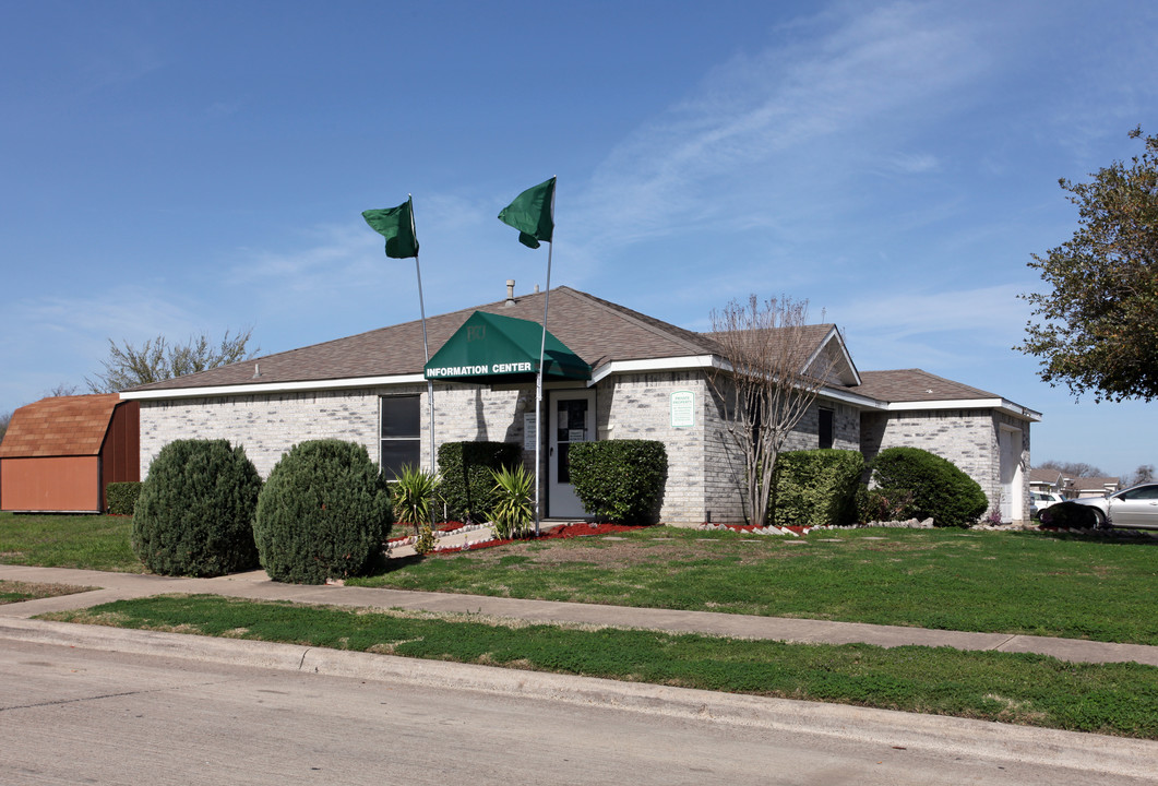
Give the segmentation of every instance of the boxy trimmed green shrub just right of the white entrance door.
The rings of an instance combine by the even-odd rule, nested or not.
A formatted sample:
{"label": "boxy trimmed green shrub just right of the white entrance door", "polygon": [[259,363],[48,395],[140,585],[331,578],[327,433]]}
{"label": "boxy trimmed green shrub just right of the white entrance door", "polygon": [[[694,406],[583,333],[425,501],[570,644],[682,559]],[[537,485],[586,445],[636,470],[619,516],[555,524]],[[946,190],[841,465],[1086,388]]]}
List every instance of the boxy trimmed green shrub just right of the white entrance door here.
{"label": "boxy trimmed green shrub just right of the white entrance door", "polygon": [[584,509],[621,524],[659,517],[667,480],[667,450],[653,440],[572,442],[571,485]]}

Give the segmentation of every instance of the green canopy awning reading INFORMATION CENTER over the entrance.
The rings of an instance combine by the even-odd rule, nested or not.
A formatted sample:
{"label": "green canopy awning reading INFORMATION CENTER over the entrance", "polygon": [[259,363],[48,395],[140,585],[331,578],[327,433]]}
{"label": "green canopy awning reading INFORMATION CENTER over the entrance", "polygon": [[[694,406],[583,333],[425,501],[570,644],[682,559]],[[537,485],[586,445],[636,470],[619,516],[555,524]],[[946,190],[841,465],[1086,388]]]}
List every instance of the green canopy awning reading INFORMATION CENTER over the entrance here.
{"label": "green canopy awning reading INFORMATION CENTER over the entrance", "polygon": [[[543,326],[537,322],[475,311],[434,353],[424,369],[427,380],[519,382],[538,374]],[[589,380],[591,366],[547,331],[543,376]]]}

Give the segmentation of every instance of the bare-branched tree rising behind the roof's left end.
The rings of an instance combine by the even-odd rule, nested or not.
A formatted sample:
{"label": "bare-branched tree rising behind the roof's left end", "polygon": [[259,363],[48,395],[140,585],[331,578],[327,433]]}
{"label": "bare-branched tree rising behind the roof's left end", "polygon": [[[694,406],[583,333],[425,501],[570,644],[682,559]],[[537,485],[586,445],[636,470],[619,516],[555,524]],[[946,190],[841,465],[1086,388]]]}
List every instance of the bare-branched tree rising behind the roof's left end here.
{"label": "bare-branched tree rising behind the roof's left end", "polygon": [[113,392],[248,360],[261,351],[247,348],[252,332],[250,328],[230,337],[227,330],[217,347],[204,335],[190,338],[188,344],[169,344],[164,336],[157,336],[139,347],[129,341],[117,346],[110,338],[109,358],[101,361],[104,373],[85,381],[93,392]]}

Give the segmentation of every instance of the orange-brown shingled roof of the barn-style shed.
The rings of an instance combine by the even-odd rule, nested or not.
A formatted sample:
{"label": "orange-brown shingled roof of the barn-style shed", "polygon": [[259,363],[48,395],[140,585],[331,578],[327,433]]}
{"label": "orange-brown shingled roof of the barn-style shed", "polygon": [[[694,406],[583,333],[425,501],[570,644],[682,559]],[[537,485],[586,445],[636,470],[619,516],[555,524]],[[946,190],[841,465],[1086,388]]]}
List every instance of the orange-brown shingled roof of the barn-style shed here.
{"label": "orange-brown shingled roof of the barn-style shed", "polygon": [[101,453],[117,394],[57,396],[12,413],[0,458],[95,456]]}

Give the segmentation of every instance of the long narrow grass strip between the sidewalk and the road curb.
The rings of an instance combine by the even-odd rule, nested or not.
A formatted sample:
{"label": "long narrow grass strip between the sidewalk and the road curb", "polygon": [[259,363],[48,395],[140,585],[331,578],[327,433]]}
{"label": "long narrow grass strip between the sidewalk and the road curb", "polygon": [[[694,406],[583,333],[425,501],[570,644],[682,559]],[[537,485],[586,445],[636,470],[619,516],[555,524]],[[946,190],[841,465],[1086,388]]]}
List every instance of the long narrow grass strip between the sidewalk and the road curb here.
{"label": "long narrow grass strip between the sidewalk and the road curb", "polygon": [[42,618],[1158,739],[1158,668],[1137,663],[752,641],[214,595],[117,601]]}

